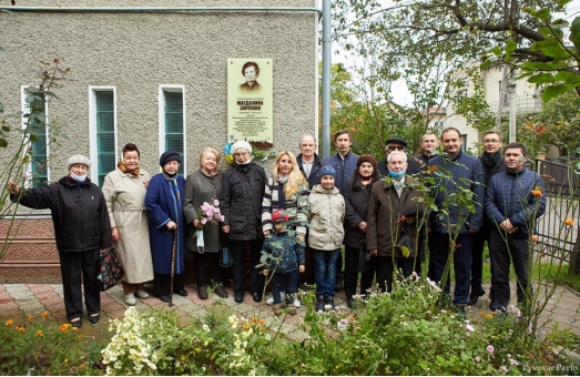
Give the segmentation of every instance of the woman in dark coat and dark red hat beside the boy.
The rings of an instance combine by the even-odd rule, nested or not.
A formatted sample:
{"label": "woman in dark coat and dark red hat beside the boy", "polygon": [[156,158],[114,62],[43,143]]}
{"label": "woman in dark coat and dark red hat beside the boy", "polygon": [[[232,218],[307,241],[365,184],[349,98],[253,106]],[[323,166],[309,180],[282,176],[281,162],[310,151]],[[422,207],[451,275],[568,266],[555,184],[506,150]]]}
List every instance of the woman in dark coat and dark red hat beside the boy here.
{"label": "woman in dark coat and dark red hat beside the boy", "polygon": [[[367,227],[367,204],[370,187],[379,180],[377,161],[365,154],[356,162],[357,170],[347,181],[345,187],[345,293],[346,304],[353,307],[353,296],[356,294],[358,281],[358,255],[366,251],[365,232]],[[360,282],[360,294],[367,294],[373,284],[374,271],[365,271]]]}

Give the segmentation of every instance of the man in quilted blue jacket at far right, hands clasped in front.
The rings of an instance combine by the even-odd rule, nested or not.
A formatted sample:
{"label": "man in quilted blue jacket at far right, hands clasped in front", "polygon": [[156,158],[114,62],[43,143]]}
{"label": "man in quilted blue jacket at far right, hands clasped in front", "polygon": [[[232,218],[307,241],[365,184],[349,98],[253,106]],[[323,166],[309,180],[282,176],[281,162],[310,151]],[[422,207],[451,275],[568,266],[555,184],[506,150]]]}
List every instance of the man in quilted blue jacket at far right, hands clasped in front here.
{"label": "man in quilted blue jacket at far right, hands clasped in front", "polygon": [[492,224],[489,255],[493,269],[493,299],[489,307],[506,312],[510,298],[510,262],[513,262],[517,276],[518,303],[526,305],[531,297],[528,281],[530,237],[536,220],[546,212],[546,190],[540,174],[523,165],[528,160],[523,144],[508,144],[503,160],[507,171],[489,180],[486,215]]}

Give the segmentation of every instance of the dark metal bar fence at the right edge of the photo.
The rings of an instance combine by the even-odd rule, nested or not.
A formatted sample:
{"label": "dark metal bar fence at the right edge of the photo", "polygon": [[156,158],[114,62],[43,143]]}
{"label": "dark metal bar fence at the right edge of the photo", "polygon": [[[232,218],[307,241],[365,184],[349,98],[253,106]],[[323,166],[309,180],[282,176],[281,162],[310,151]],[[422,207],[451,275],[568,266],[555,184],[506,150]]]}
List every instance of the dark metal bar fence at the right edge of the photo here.
{"label": "dark metal bar fence at the right edge of the photo", "polygon": [[[538,242],[557,248],[556,255],[570,262],[580,223],[579,175],[568,165],[543,160],[536,160],[536,171],[542,175],[547,193],[546,213],[537,222]],[[573,221],[572,226],[564,224],[567,218]]]}

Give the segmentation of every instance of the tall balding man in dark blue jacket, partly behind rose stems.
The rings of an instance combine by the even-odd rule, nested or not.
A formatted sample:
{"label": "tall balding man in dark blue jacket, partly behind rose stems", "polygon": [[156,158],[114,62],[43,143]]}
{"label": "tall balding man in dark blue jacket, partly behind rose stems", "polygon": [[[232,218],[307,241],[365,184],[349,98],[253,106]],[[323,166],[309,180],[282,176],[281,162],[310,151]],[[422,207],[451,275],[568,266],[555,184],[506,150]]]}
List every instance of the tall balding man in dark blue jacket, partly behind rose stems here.
{"label": "tall balding man in dark blue jacket, partly behind rose stems", "polygon": [[[437,155],[429,160],[429,166],[438,166],[441,174],[452,175],[448,180],[436,173],[436,185],[431,193],[435,195],[435,204],[439,211],[431,213],[429,234],[429,276],[440,282],[449,255],[454,255],[455,292],[452,303],[459,310],[465,313],[465,305],[469,298],[471,246],[472,235],[479,232],[484,220],[484,169],[479,159],[468,155],[461,151],[461,134],[454,128],[445,129],[441,134],[444,155]],[[450,205],[444,208],[446,200],[462,190],[474,193],[475,212],[467,208]],[[449,230],[460,225],[457,238],[451,240]],[[455,233],[454,232],[454,233]],[[445,294],[450,291],[449,275],[446,277]]]}

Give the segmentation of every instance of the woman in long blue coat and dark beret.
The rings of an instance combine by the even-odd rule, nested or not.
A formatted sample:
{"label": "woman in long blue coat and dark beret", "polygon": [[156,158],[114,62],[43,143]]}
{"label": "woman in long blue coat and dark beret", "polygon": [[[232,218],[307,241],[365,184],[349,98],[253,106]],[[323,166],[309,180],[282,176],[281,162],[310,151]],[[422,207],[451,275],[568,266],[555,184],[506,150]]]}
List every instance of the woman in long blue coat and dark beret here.
{"label": "woman in long blue coat and dark beret", "polygon": [[[185,217],[183,198],[185,180],[179,175],[182,160],[177,152],[167,151],[159,160],[163,172],[153,176],[145,194],[149,212],[149,236],[153,256],[153,293],[164,303],[171,300],[171,275],[173,292],[187,296],[184,288]],[[175,259],[172,266],[173,245]]]}

